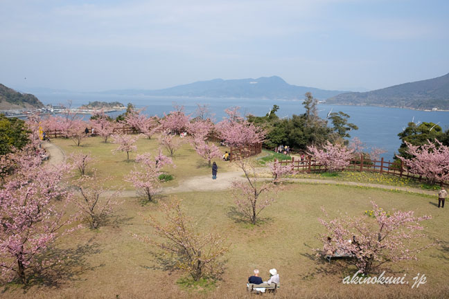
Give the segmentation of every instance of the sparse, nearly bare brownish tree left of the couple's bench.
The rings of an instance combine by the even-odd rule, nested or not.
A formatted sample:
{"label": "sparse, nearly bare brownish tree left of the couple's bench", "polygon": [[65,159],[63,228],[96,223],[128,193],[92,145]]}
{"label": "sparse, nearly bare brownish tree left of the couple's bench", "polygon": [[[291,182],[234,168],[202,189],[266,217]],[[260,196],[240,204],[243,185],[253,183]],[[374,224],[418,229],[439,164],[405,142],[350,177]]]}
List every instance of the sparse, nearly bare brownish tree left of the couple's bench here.
{"label": "sparse, nearly bare brownish tree left of the couple's bench", "polygon": [[160,248],[166,254],[174,254],[177,268],[191,275],[195,281],[218,273],[223,264],[220,258],[228,251],[224,237],[218,233],[204,233],[203,229],[197,230],[177,199],[161,203],[161,210],[164,223],[159,217],[150,215],[145,222],[154,233],[148,237],[134,237]]}

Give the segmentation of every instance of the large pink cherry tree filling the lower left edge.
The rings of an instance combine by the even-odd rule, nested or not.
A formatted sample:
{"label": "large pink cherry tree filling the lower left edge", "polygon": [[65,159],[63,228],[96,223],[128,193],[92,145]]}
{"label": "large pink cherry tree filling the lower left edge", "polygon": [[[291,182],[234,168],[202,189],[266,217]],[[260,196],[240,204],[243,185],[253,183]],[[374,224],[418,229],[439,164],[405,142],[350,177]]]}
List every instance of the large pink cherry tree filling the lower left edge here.
{"label": "large pink cherry tree filling the lower left edge", "polygon": [[[62,176],[65,165],[29,167],[27,161],[0,189],[0,268],[3,278],[28,282],[27,269],[39,253],[69,233],[76,217],[64,216],[71,199]],[[42,262],[42,261],[41,261]]]}

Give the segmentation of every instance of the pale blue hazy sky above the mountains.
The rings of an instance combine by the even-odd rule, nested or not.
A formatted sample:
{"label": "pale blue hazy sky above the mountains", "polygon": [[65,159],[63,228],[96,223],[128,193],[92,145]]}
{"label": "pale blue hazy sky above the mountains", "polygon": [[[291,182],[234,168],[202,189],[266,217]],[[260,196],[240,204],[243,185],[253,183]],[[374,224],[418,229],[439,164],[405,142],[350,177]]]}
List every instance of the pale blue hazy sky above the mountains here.
{"label": "pale blue hazy sky above the mountains", "polygon": [[448,0],[0,0],[0,83],[10,87],[279,75],[355,90],[446,73]]}

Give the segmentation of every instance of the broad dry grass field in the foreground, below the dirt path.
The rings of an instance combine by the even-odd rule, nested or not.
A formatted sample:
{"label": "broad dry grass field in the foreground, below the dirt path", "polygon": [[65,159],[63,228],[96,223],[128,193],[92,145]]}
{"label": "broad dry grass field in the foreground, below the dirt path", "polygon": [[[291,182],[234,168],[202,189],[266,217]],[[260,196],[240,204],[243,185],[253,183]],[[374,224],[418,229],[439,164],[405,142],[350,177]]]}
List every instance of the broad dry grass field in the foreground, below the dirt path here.
{"label": "broad dry grass field in the foreground, below the dirt path", "polygon": [[[242,298],[247,296],[245,282],[254,268],[261,270],[264,279],[269,269],[278,270],[281,289],[276,298],[447,298],[449,295],[448,210],[436,208],[434,199],[382,190],[292,183],[279,193],[276,203],[261,213],[263,222],[250,226],[234,210],[230,192],[190,192],[177,196],[183,199],[184,210],[197,221],[198,228],[227,236],[230,244],[225,256],[227,263],[213,290],[186,291],[177,284],[183,274],[165,270],[157,259],[157,251],[130,235],[151,234],[138,213],[158,214],[159,203],[170,200],[159,197],[159,203],[145,206],[137,198],[125,199],[108,226],[98,231],[84,228],[60,239],[52,253],[64,260],[58,269],[44,272],[41,282],[27,289],[8,284],[0,297]],[[427,283],[419,289],[411,289],[411,285],[347,286],[342,284],[342,278],[355,272],[353,266],[315,259],[312,248],[320,246],[316,237],[324,229],[317,221],[322,216],[320,207],[324,206],[331,217],[339,212],[362,215],[371,208],[371,200],[385,210],[414,210],[416,215],[433,216],[424,222],[425,232],[430,239],[440,239],[441,245],[420,253],[419,261],[389,264],[385,268],[390,275],[407,273],[410,284],[417,273],[424,273]]]}

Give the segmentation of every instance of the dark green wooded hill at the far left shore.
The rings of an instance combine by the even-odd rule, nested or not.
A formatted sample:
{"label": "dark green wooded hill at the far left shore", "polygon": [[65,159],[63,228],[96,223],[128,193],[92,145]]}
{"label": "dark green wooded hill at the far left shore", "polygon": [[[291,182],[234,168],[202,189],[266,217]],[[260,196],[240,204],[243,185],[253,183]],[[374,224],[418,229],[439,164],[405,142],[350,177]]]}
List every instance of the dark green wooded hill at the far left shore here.
{"label": "dark green wooded hill at the far left shore", "polygon": [[44,107],[41,101],[30,93],[19,93],[0,84],[0,109],[24,109]]}

